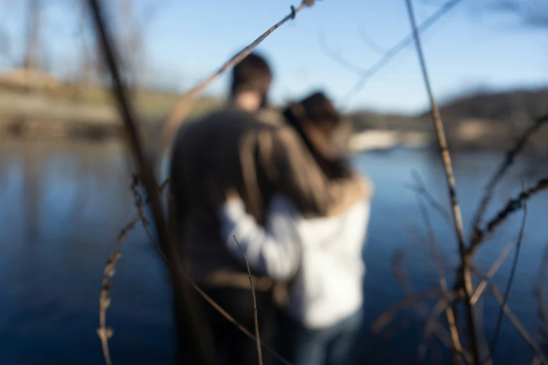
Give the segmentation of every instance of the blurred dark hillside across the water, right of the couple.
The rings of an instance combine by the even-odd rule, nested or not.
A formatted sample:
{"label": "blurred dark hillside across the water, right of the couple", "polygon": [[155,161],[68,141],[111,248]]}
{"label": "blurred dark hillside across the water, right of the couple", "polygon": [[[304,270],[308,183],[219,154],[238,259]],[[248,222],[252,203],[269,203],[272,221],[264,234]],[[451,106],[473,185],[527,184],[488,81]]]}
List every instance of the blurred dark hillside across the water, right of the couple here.
{"label": "blurred dark hillside across the water, right of the couple", "polygon": [[[447,139],[452,148],[505,149],[531,122],[548,113],[548,88],[479,92],[443,103],[440,112]],[[433,125],[428,112],[419,115],[392,115],[368,110],[349,115],[354,131],[391,129],[430,131]],[[548,127],[532,138],[530,148],[548,153]]]}

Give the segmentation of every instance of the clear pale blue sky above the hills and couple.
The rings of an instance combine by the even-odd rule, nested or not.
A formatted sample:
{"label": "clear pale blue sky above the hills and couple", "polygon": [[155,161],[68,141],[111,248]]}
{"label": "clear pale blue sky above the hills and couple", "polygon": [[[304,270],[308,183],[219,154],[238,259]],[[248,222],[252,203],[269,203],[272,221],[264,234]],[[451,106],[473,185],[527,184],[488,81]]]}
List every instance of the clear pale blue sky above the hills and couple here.
{"label": "clear pale blue sky above the hills and couple", "polygon": [[[4,0],[6,2],[8,0]],[[150,17],[146,31],[147,62],[155,77],[181,89],[191,87],[239,49],[281,19],[298,0],[157,0],[150,15],[146,0],[134,0],[136,13]],[[442,0],[416,0],[418,21]],[[519,18],[493,13],[486,1],[464,0],[423,36],[433,90],[440,99],[478,87],[509,89],[548,85],[548,29],[522,27]],[[48,9],[53,30],[45,36],[56,55],[70,59],[73,31],[55,30],[66,20],[66,6]],[[330,48],[364,68],[381,57],[360,31],[390,48],[409,31],[403,0],[323,0],[274,32],[258,48],[274,67],[272,100],[295,99],[322,88],[339,106],[352,109],[414,113],[426,108],[426,92],[414,48],[393,59],[351,101],[343,96],[356,83],[356,73],[325,55],[320,34]],[[76,11],[76,10],[75,10]],[[73,16],[76,14],[73,11]],[[64,19],[64,20],[63,20]],[[15,17],[7,27],[15,34]],[[223,94],[227,77],[206,91]]]}

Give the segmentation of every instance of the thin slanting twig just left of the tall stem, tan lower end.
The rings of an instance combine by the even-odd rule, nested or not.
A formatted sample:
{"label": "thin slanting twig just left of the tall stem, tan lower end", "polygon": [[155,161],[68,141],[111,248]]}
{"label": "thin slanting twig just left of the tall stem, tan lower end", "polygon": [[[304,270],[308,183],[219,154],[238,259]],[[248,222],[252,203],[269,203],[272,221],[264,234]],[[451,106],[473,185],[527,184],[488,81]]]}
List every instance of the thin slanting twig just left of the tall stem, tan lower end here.
{"label": "thin slanting twig just left of the tall stem, tan lower end", "polygon": [[[423,185],[423,182],[419,176],[419,173],[414,171],[414,178],[415,183],[419,185],[419,187],[426,191],[426,187]],[[434,253],[434,259],[437,264],[437,278],[440,282],[440,289],[442,289],[442,292],[444,294],[444,298],[446,301],[449,301],[449,290],[447,289],[447,280],[445,278],[445,273],[443,269],[443,262],[442,257],[440,256],[440,250],[437,248],[437,241],[434,235],[434,229],[432,227],[432,222],[430,222],[430,215],[428,215],[428,210],[426,210],[426,206],[424,205],[423,201],[421,200],[421,196],[417,194],[417,202],[419,203],[419,208],[421,210],[421,215],[423,216],[423,220],[426,224],[426,231],[428,231],[428,241],[430,242],[430,248],[432,249],[432,252]],[[456,355],[462,355],[463,348],[461,346],[461,340],[458,336],[458,330],[455,323],[455,315],[453,313],[453,308],[451,306],[445,306],[445,315],[447,317],[447,323],[449,323],[449,331],[451,332],[451,341],[453,344],[452,350]],[[437,318],[437,316],[436,316]]]}

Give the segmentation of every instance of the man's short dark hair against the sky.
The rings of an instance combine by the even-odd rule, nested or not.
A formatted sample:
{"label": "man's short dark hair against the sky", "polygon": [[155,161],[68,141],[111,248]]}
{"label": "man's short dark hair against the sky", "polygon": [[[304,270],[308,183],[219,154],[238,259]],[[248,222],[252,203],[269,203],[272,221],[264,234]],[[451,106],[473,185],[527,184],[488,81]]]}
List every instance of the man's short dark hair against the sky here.
{"label": "man's short dark hair against the sky", "polygon": [[230,93],[259,92],[266,94],[272,81],[272,70],[267,60],[253,52],[232,69]]}

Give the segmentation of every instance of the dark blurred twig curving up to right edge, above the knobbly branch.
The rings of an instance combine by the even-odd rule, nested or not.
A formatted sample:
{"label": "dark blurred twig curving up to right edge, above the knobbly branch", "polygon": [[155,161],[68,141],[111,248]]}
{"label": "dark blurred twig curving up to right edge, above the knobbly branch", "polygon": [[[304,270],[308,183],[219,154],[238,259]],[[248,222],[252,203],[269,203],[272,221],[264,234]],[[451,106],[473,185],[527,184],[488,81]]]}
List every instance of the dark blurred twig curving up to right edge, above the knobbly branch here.
{"label": "dark blurred twig curving up to right edge, above the knobbly branch", "polygon": [[516,159],[516,156],[519,155],[519,152],[524,149],[526,143],[529,141],[529,138],[531,138],[531,136],[533,136],[533,134],[535,134],[535,132],[538,131],[540,127],[542,127],[542,124],[545,124],[546,122],[548,122],[548,114],[539,117],[537,120],[535,120],[535,122],[533,122],[531,127],[528,127],[528,129],[524,131],[524,134],[521,135],[516,144],[506,153],[505,159],[500,164],[500,166],[498,166],[498,169],[491,178],[491,180],[489,180],[489,183],[485,188],[485,195],[481,203],[479,203],[477,212],[474,215],[474,220],[472,221],[472,250],[474,249],[475,245],[479,245],[479,243],[482,242],[482,239],[477,237],[476,230],[479,229],[479,224],[481,224],[482,222],[485,211],[487,210],[487,206],[489,206],[491,199],[493,199],[495,187],[500,182],[500,179],[503,178],[508,168],[512,166],[512,164],[514,163],[514,159]]}

